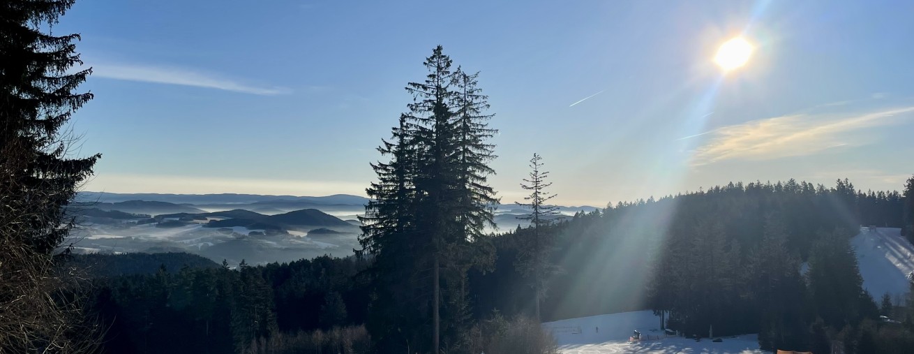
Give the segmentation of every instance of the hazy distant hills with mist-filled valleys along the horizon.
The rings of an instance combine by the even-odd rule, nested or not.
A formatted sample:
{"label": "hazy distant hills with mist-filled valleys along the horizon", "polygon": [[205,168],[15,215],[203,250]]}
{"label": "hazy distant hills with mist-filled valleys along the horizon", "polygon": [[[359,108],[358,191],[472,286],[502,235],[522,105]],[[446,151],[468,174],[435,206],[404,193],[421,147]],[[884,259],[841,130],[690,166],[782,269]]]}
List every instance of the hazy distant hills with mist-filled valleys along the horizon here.
{"label": "hazy distant hills with mist-filled valleys along the horizon", "polygon": [[[70,233],[79,253],[191,252],[217,263],[291,262],[324,254],[345,257],[359,249],[358,216],[368,198],[254,194],[119,194],[81,192],[71,212],[80,227]],[[568,220],[594,207],[559,207]],[[511,231],[528,209],[500,205],[495,231]]]}

